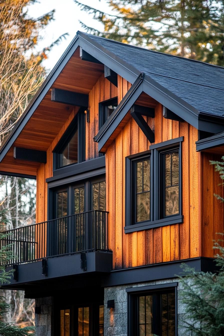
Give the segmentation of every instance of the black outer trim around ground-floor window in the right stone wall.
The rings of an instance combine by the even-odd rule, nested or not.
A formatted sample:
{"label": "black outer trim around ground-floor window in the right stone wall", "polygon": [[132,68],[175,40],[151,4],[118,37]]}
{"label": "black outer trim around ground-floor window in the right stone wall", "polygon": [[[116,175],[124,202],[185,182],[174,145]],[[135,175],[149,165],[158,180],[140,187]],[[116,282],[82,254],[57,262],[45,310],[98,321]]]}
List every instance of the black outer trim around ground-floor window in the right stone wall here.
{"label": "black outer trim around ground-floor window in the right stone wall", "polygon": [[128,295],[127,305],[128,305],[128,336],[136,336],[134,330],[134,302],[136,297],[146,293],[163,292],[174,289],[175,292],[175,335],[177,336],[177,286],[178,282],[171,282],[166,284],[149,285],[126,288],[126,293]]}

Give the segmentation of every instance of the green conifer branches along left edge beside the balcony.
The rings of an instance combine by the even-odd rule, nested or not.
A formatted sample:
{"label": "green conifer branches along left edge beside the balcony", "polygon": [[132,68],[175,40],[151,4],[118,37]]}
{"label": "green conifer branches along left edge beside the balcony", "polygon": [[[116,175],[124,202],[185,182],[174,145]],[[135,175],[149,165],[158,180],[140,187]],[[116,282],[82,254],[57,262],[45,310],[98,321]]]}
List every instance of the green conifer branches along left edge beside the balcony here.
{"label": "green conifer branches along left edge beside the balcony", "polygon": [[[2,187],[4,181],[0,180],[0,187]],[[5,219],[7,209],[0,210],[0,226],[4,227],[8,224],[9,220]],[[0,240],[4,240],[8,237],[7,234],[0,233]],[[11,249],[12,244],[2,246],[0,249],[0,284],[9,283],[13,275],[13,270],[6,271],[5,264],[10,259],[13,259],[14,255]],[[4,302],[4,297],[0,296],[0,336],[26,336],[29,335],[29,331],[34,331],[34,327],[19,328],[13,323],[4,323],[2,318],[9,312],[10,304]]]}

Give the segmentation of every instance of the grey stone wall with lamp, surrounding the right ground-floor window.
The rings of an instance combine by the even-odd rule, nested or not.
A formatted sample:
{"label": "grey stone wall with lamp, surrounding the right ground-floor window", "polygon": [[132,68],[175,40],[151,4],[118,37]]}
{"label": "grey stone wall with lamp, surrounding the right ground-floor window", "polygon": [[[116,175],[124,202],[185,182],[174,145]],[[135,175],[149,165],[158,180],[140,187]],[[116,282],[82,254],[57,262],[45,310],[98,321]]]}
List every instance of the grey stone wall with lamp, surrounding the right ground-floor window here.
{"label": "grey stone wall with lamp, surrounding the right ground-floor window", "polygon": [[[190,281],[190,280],[189,280]],[[126,288],[159,285],[164,283],[177,282],[177,279],[161,281],[149,281],[138,284],[129,284],[116,287],[104,288],[104,336],[127,336],[127,293]],[[181,328],[181,320],[185,315],[185,307],[180,298],[181,288],[177,287],[177,316],[178,336],[190,336],[186,329]],[[115,300],[115,309],[107,308],[107,300]]]}

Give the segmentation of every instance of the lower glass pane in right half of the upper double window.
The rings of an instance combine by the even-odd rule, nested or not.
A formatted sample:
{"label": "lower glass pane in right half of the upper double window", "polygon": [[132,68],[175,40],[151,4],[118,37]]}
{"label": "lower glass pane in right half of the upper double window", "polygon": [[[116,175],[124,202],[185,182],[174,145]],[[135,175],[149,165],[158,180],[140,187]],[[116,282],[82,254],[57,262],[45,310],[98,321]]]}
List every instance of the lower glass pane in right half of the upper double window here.
{"label": "lower glass pane in right half of the upper double window", "polygon": [[179,213],[179,186],[166,188],[165,215],[176,215]]}

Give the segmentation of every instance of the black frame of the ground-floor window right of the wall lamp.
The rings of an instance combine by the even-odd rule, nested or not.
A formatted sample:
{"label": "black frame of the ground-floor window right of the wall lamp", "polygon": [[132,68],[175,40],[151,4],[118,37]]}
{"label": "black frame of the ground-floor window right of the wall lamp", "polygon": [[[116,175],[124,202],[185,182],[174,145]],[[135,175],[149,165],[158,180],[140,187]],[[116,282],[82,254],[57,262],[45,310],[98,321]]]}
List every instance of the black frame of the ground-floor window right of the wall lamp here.
{"label": "black frame of the ground-floor window right of the wall lamp", "polygon": [[[138,310],[136,307],[138,297],[145,295],[157,295],[159,297],[159,295],[171,291],[175,293],[175,336],[177,336],[177,286],[178,283],[174,282],[126,289],[128,295],[128,336],[138,336]],[[157,310],[156,313],[159,314],[156,307],[153,307],[153,309]],[[155,321],[155,324],[158,324],[158,321]],[[154,330],[154,332],[158,332],[158,329]]]}

